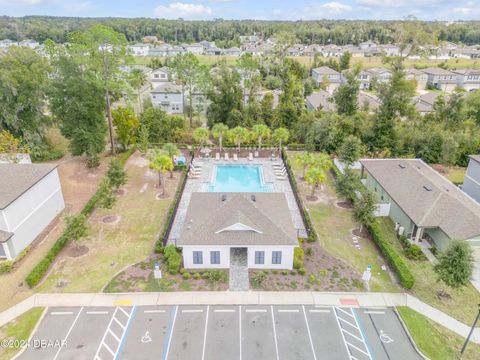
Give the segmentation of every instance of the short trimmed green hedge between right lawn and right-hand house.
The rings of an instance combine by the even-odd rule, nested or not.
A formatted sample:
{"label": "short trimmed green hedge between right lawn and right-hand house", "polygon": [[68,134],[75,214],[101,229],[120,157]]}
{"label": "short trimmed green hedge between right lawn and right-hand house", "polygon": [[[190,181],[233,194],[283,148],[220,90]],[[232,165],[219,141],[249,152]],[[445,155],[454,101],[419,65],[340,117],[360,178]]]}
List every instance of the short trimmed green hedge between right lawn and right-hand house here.
{"label": "short trimmed green hedge between right lawn and right-hand house", "polygon": [[397,253],[392,244],[385,239],[378,222],[374,221],[373,224],[367,226],[367,229],[372,235],[373,241],[375,241],[385,256],[388,264],[397,274],[398,278],[400,279],[400,284],[402,284],[402,286],[406,289],[411,289],[415,284],[415,278],[413,277],[413,274],[410,272],[410,269],[403,258]]}

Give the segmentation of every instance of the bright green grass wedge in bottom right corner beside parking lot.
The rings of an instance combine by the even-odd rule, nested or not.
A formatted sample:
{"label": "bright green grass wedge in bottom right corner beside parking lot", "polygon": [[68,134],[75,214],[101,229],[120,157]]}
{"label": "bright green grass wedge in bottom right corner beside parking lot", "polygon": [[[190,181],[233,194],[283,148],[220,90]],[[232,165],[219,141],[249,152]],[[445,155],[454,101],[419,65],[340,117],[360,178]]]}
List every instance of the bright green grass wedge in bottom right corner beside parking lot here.
{"label": "bright green grass wedge in bottom right corner beside parking lot", "polygon": [[[408,307],[398,307],[420,351],[432,360],[458,359],[465,339]],[[462,359],[478,359],[480,346],[470,343]]]}

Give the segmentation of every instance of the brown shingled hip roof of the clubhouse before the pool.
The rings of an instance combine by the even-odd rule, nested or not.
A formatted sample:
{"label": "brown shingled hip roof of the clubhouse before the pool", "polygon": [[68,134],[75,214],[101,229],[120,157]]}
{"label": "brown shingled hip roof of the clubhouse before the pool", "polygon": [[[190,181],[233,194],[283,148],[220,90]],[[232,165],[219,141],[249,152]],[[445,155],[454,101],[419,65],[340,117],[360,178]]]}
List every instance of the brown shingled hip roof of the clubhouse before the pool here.
{"label": "brown shingled hip roof of the clubhouse before the pool", "polygon": [[283,193],[192,193],[177,245],[298,245]]}

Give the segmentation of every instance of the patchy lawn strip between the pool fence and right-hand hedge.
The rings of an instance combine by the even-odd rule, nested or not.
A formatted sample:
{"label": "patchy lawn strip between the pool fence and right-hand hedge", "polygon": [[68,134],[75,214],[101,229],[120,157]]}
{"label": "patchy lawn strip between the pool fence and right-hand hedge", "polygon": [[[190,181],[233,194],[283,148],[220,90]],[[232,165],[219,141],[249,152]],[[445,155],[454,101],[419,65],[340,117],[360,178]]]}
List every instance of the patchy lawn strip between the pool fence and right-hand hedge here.
{"label": "patchy lawn strip between the pool fence and right-hand hedge", "polygon": [[[298,152],[291,151],[288,156],[292,160],[291,163],[302,197],[305,198],[305,195],[309,194],[311,190],[305,181],[300,180],[300,167],[293,164],[295,153]],[[361,249],[355,248],[350,230],[358,228],[358,225],[352,220],[351,210],[335,206],[335,203],[339,200],[336,198],[334,179],[330,174],[327,177],[327,182],[323,185],[323,189],[318,191],[317,195],[324,201],[305,202],[305,204],[320,238],[320,246],[332,256],[347,262],[360,274],[367,269],[368,265],[372,265],[371,291],[399,291],[400,288],[395,285],[389,274],[381,269],[385,262],[371,240],[361,239]]]}

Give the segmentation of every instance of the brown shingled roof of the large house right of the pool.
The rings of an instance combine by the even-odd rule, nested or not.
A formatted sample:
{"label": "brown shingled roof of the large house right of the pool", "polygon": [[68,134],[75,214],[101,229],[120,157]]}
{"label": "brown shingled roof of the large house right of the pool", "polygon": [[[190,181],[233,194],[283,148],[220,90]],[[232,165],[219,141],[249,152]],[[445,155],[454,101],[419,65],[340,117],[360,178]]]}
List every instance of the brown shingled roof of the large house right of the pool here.
{"label": "brown shingled roof of the large house right of the pool", "polygon": [[419,227],[451,239],[480,235],[480,205],[421,159],[364,159],[362,165]]}

